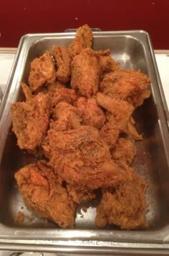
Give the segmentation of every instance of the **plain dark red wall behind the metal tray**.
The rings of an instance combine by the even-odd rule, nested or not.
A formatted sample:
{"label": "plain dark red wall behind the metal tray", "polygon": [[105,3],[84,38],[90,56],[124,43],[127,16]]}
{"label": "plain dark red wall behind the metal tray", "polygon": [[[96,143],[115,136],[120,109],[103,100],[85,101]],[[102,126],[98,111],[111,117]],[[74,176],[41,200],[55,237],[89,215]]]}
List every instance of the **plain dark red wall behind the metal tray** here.
{"label": "plain dark red wall behind the metal tray", "polygon": [[17,47],[26,33],[85,23],[102,30],[144,29],[155,49],[169,49],[169,0],[1,0],[0,47]]}

